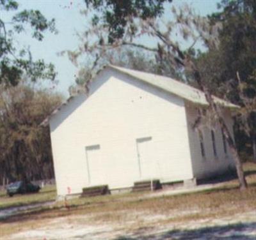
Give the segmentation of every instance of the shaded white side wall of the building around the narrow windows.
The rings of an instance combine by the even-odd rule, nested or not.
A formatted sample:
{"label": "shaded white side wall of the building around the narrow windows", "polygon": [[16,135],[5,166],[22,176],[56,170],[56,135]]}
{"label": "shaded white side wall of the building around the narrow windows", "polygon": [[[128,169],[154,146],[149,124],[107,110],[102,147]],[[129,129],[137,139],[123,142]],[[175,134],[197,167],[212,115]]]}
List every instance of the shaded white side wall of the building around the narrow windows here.
{"label": "shaded white side wall of the building around the narrow windows", "polygon": [[[205,157],[203,158],[200,149],[200,139],[198,131],[192,129],[192,126],[195,123],[197,117],[197,110],[195,105],[192,105],[191,103],[186,103],[186,114],[188,121],[189,146],[191,151],[193,175],[196,178],[200,179],[218,173],[221,174],[222,172],[228,170],[229,167],[234,167],[234,161],[232,160],[228,145],[227,154],[224,151],[220,126],[217,126],[217,128],[214,129],[217,153],[216,156],[214,156],[214,150],[212,147],[211,129],[207,126],[200,128],[204,136]],[[225,110],[223,114],[225,122],[227,123],[227,126],[234,137],[232,127],[233,122],[230,112],[228,112],[228,110]]]}

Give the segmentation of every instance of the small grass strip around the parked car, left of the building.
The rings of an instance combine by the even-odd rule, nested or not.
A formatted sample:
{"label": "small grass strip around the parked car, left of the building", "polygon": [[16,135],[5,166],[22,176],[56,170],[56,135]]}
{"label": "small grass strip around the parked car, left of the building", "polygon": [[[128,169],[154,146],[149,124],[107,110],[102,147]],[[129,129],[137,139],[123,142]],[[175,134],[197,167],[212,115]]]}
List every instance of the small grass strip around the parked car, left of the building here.
{"label": "small grass strip around the parked car, left of the building", "polygon": [[56,199],[56,187],[47,185],[39,193],[14,195],[9,197],[6,191],[0,191],[0,211],[8,207],[26,206],[39,202],[47,202]]}

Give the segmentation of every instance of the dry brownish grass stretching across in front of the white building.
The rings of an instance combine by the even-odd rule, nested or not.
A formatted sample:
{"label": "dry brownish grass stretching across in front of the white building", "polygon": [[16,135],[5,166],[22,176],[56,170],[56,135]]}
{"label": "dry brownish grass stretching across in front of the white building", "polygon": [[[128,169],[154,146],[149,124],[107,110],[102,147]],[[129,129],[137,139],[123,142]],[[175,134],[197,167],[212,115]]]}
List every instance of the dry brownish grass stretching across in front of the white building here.
{"label": "dry brownish grass stretching across in front of the white building", "polygon": [[[124,229],[131,230],[221,218],[236,219],[244,213],[256,211],[256,164],[246,163],[244,171],[249,184],[248,190],[240,191],[237,179],[234,179],[212,190],[182,195],[154,197],[154,193],[125,193],[72,199],[0,220],[0,236],[36,229],[59,218],[68,218],[68,223],[74,221],[75,226],[90,222],[124,226]],[[150,198],[147,197],[149,194]],[[0,210],[3,207],[54,200],[55,195],[55,189],[47,187],[34,195],[0,197]],[[71,217],[74,220],[70,220]]]}

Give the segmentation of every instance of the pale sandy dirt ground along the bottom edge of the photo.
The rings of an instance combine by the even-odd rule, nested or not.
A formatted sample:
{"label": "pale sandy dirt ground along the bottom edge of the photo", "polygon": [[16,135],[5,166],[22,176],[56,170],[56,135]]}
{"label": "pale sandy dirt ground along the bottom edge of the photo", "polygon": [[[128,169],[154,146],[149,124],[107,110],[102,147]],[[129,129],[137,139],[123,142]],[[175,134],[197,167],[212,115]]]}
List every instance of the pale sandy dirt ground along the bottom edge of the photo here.
{"label": "pale sandy dirt ground along the bottom edge of the photo", "polygon": [[170,222],[196,211],[166,214],[122,211],[120,215],[124,217],[118,222],[102,221],[99,213],[71,215],[43,221],[42,227],[12,234],[8,239],[256,239],[256,211],[226,218]]}

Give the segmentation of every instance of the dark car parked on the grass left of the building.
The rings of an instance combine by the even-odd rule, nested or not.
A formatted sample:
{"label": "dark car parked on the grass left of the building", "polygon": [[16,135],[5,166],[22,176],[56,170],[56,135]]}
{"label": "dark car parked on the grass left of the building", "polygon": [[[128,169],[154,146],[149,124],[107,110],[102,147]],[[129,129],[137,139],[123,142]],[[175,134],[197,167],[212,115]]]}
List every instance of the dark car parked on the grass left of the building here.
{"label": "dark car parked on the grass left of the building", "polygon": [[12,197],[14,194],[24,194],[24,193],[37,193],[40,190],[40,186],[25,182],[25,181],[17,181],[15,183],[11,183],[7,187],[7,194]]}

